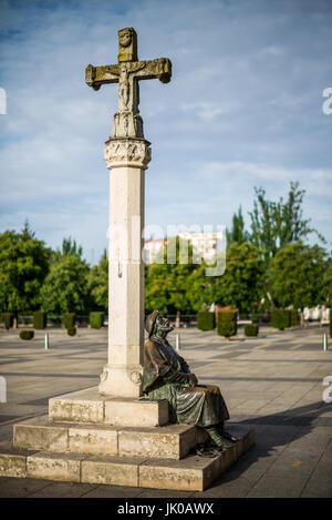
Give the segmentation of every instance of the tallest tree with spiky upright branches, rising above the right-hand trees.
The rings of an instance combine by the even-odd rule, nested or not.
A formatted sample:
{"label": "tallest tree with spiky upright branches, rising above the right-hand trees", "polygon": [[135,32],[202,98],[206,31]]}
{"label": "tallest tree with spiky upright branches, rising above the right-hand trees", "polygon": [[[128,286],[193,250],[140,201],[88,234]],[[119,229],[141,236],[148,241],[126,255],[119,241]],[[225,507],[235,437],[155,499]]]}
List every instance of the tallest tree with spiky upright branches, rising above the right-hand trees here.
{"label": "tallest tree with spiky upright branches, rising above the right-hand trees", "polygon": [[322,235],[310,227],[311,220],[303,218],[302,203],[304,190],[299,190],[299,183],[290,184],[288,200],[283,202],[268,201],[262,187],[255,188],[256,200],[251,218],[251,237],[256,247],[262,251],[266,267],[269,268],[277,251],[284,245],[304,238],[315,233],[324,242]]}

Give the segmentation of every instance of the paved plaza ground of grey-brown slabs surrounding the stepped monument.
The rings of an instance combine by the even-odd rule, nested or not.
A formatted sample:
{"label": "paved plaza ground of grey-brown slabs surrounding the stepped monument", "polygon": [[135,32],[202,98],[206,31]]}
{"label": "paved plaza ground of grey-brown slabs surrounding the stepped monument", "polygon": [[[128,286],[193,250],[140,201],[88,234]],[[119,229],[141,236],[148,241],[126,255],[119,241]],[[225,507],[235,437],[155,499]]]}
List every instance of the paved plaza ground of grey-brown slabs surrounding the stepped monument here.
{"label": "paved plaza ground of grey-brown slabs surrounding the stepped monument", "polygon": [[[13,424],[48,414],[48,400],[96,386],[106,363],[107,330],[49,329],[23,341],[0,330],[0,376],[7,402],[0,404],[0,440]],[[326,327],[273,330],[257,338],[242,329],[230,340],[216,332],[180,328],[180,354],[199,383],[220,387],[230,420],[256,428],[256,446],[204,492],[0,478],[0,497],[68,498],[240,498],[332,497],[332,341],[323,350]],[[169,335],[175,344],[175,333]],[[332,383],[330,384],[332,385]],[[325,390],[324,398],[323,391]]]}

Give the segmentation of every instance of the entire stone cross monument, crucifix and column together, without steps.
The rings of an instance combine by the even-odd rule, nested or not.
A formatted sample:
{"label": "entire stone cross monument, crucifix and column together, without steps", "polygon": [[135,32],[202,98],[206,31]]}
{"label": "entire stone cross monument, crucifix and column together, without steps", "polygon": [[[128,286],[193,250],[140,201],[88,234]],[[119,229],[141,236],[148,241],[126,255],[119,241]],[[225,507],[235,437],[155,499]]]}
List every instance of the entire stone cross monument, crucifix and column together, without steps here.
{"label": "entire stone cross monument, crucifix and column together, without steps", "polygon": [[118,108],[104,156],[110,170],[108,227],[108,363],[101,375],[100,394],[137,398],[142,395],[144,346],[145,170],[151,143],[144,139],[139,115],[139,80],[168,83],[167,58],[138,61],[133,28],[118,31],[118,63],[87,65],[85,81],[98,90],[118,83]]}

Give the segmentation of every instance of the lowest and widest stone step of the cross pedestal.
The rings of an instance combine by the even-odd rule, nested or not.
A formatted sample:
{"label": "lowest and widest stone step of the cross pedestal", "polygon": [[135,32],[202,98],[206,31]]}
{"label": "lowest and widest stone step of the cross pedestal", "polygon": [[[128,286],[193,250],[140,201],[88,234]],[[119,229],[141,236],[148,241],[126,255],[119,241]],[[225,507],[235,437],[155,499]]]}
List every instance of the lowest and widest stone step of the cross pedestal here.
{"label": "lowest and widest stone step of the cross pedestal", "polygon": [[24,451],[0,442],[0,476],[141,488],[204,491],[255,445],[250,427],[229,427],[240,440],[217,457],[187,455],[181,460]]}

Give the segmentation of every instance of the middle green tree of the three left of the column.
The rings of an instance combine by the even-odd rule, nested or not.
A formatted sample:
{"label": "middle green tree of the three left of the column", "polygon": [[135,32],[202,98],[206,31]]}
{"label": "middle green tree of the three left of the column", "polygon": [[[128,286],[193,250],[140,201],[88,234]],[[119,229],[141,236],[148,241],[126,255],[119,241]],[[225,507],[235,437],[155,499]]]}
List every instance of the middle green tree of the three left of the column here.
{"label": "middle green tree of the three left of the column", "polygon": [[[69,239],[70,241],[70,239]],[[41,289],[42,307],[48,313],[80,313],[86,308],[89,265],[81,258],[82,247],[72,252],[63,241],[62,253],[54,254]]]}

